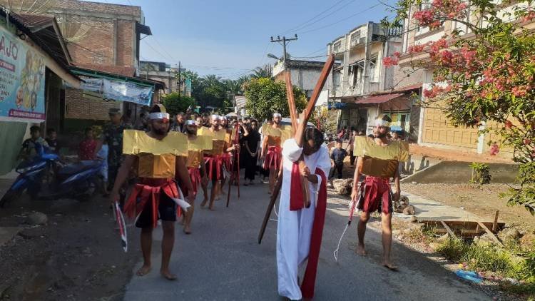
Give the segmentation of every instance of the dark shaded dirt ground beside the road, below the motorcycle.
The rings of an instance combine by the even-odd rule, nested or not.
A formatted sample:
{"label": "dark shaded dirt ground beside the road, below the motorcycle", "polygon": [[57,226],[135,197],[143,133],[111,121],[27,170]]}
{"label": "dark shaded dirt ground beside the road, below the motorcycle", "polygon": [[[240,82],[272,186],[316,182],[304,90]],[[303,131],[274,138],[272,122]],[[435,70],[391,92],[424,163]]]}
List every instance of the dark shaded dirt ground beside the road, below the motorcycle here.
{"label": "dark shaded dirt ground beside the road, below the motorcycle", "polygon": [[[108,201],[21,200],[0,209],[0,227],[25,229],[0,248],[0,300],[122,300],[138,258],[123,252]],[[32,211],[46,225],[26,224]],[[131,230],[132,228],[128,228]]]}

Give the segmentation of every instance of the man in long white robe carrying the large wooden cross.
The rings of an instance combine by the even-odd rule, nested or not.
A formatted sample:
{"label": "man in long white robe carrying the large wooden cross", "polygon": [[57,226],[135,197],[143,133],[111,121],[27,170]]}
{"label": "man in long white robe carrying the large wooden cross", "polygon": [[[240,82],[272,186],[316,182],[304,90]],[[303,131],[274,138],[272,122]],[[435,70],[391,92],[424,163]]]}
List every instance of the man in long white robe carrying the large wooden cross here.
{"label": "man in long white robe carrying the large wooden cross", "polygon": [[[304,135],[301,134],[302,136],[304,136],[304,139],[299,139],[296,136],[297,141],[301,140],[305,141],[305,143],[297,143],[296,139],[288,139],[282,146],[283,182],[280,193],[277,227],[277,273],[279,295],[287,297],[290,300],[301,300],[303,297],[311,298],[313,295],[315,267],[312,267],[314,270],[312,272],[314,274],[313,277],[309,277],[312,279],[312,292],[308,290],[309,292],[305,293],[305,289],[302,292],[297,282],[297,277],[300,267],[309,258],[309,251],[312,252],[310,245],[313,232],[312,228],[315,222],[315,216],[318,216],[317,214],[322,215],[322,218],[318,218],[321,219],[321,225],[314,227],[316,230],[320,230],[319,232],[315,232],[315,235],[319,236],[319,245],[316,244],[317,248],[315,248],[318,253],[317,255],[319,255],[323,228],[322,223],[325,219],[326,206],[326,181],[323,179],[325,179],[326,175],[329,175],[331,167],[329,151],[325,143],[323,143],[322,133],[315,128],[307,128]],[[300,188],[295,188],[295,182],[292,184],[292,169],[295,168],[294,163],[302,155],[307,168],[300,168],[300,174],[307,178],[306,183],[309,185],[310,191],[310,207],[300,210],[290,210],[291,190],[298,189],[294,193],[301,193]],[[320,175],[321,173],[323,175]],[[295,176],[295,173],[293,175]],[[318,193],[322,186],[324,187],[322,194],[324,200],[322,201],[322,205],[317,207]],[[317,242],[317,237],[315,241]],[[317,265],[317,255],[313,264],[315,266]],[[308,265],[310,265],[310,261]],[[309,267],[307,267],[308,272]],[[307,278],[306,274],[305,278]],[[303,286],[305,286],[304,282],[305,280],[303,280]]]}

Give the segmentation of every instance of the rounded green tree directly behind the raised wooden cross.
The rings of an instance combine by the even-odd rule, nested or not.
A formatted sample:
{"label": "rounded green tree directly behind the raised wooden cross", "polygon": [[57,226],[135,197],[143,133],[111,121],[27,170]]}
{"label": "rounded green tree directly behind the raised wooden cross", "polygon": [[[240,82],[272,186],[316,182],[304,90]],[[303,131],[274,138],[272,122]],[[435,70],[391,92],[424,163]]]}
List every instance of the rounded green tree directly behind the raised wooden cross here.
{"label": "rounded green tree directly behind the raised wooden cross", "polygon": [[[302,111],[307,106],[305,93],[296,86],[293,87],[295,106]],[[271,118],[275,112],[282,116],[290,116],[284,82],[275,82],[271,78],[253,78],[245,85],[245,108],[251,116],[258,120]]]}

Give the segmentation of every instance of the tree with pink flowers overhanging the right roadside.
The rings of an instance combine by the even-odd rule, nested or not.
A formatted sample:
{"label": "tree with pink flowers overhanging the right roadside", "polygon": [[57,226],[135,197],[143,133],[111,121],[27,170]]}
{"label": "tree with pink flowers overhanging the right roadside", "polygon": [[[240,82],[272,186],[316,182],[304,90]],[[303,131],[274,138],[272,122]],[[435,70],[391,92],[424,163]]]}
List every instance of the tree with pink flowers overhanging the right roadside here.
{"label": "tree with pink flowers overhanging the right roadside", "polygon": [[509,204],[524,205],[535,215],[535,36],[529,30],[535,8],[531,4],[400,0],[389,26],[411,19],[409,31],[418,26],[433,30],[455,21],[467,32],[454,29],[437,41],[394,53],[383,63],[394,66],[408,56],[412,68],[432,70],[434,83],[423,91],[423,105],[441,106],[455,126],[499,124],[481,131],[499,134],[499,141],[489,142],[491,153],[507,146],[519,163],[519,187],[506,195]]}

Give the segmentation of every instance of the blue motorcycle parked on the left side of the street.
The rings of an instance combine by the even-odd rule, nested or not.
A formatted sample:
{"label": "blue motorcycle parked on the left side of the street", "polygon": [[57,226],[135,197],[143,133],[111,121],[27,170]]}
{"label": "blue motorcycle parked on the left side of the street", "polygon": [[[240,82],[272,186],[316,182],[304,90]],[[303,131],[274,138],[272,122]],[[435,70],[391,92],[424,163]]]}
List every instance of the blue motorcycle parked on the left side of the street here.
{"label": "blue motorcycle parked on the left side of the street", "polygon": [[74,198],[88,200],[99,187],[102,160],[84,160],[63,164],[55,153],[36,145],[37,155],[16,167],[19,176],[0,200],[0,207],[19,198],[24,190],[33,199],[57,200]]}

